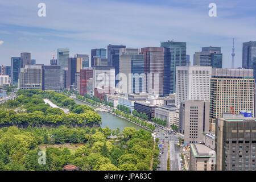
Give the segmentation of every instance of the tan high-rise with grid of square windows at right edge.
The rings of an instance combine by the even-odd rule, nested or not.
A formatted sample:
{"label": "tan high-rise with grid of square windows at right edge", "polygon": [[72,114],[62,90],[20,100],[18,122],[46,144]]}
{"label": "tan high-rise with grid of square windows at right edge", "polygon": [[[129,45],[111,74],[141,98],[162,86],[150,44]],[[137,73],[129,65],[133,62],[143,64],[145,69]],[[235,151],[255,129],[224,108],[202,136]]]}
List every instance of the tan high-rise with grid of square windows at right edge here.
{"label": "tan high-rise with grid of square windows at right edge", "polygon": [[222,113],[242,110],[254,114],[253,69],[212,69],[210,80],[210,129]]}

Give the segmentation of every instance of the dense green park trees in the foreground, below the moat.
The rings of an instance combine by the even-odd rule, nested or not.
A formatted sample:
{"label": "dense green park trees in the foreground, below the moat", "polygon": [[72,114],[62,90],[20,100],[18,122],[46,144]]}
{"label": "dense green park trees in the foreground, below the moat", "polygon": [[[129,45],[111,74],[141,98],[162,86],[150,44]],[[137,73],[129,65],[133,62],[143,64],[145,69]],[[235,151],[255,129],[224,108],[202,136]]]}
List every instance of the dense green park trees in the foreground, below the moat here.
{"label": "dense green park trees in the foreground, below the moat", "polygon": [[[112,139],[110,135],[117,138]],[[125,128],[122,133],[108,127],[3,127],[0,170],[60,171],[65,165],[73,164],[86,171],[141,171],[150,169],[152,156],[152,168],[156,169],[160,163],[159,148],[153,147],[151,134],[133,127]],[[46,163],[38,162],[42,157],[40,151],[45,154]]]}

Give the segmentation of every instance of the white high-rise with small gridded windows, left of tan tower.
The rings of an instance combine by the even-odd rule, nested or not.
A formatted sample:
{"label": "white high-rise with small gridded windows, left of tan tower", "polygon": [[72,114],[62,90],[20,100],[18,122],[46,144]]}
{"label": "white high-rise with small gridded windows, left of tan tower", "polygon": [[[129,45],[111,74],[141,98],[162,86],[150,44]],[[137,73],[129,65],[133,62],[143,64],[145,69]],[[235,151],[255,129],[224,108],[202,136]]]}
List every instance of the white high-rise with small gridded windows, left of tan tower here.
{"label": "white high-rise with small gridded windows, left of tan tower", "polygon": [[187,100],[210,100],[210,78],[212,67],[176,67],[175,104]]}

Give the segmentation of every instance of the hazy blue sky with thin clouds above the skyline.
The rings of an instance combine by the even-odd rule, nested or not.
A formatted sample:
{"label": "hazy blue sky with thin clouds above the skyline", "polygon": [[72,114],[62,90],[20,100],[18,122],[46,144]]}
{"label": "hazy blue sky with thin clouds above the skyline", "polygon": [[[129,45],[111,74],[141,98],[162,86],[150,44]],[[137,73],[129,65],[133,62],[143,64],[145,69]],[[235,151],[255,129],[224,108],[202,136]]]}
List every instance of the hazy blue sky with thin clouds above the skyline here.
{"label": "hazy blue sky with thin clouds above the skyline", "polygon": [[[39,3],[46,16],[38,16]],[[210,3],[217,16],[210,17]],[[90,55],[109,44],[128,48],[159,47],[160,42],[187,42],[187,54],[201,47],[221,47],[223,68],[230,68],[233,38],[235,67],[242,65],[242,43],[256,40],[255,0],[0,0],[0,65],[31,52],[49,64],[57,48]]]}

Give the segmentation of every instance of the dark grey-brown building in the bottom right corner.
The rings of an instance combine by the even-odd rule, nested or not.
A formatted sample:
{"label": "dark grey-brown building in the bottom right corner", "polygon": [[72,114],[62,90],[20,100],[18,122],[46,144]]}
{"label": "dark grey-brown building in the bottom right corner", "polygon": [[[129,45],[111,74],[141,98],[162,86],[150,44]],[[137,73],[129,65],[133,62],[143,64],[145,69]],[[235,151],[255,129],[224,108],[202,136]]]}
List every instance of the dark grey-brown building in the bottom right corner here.
{"label": "dark grey-brown building in the bottom right corner", "polygon": [[217,118],[217,171],[255,171],[256,118]]}

